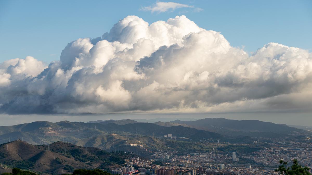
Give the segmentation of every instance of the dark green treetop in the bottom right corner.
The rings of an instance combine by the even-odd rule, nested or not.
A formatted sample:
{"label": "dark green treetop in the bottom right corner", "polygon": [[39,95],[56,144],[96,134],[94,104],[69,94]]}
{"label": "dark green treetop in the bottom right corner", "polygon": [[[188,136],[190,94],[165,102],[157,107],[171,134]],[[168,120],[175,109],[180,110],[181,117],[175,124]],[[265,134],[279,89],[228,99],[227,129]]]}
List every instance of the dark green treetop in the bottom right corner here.
{"label": "dark green treetop in the bottom right corner", "polygon": [[286,168],[287,162],[280,160],[280,166],[278,167],[278,169],[275,169],[275,172],[285,175],[311,175],[309,172],[310,168],[306,166],[302,167],[301,165],[299,165],[297,159],[294,159],[292,161],[293,164],[291,165],[291,167]]}

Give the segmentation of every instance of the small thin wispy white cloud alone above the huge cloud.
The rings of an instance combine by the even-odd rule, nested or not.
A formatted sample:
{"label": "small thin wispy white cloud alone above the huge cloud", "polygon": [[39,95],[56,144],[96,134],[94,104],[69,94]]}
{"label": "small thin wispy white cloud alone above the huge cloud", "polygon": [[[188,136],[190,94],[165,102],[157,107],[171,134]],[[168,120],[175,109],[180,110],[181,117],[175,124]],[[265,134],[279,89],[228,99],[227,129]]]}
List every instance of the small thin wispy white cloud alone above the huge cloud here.
{"label": "small thin wispy white cloud alone above the huge cloud", "polygon": [[194,8],[194,12],[202,11],[201,8],[195,8],[187,4],[180,4],[177,2],[156,2],[152,6],[142,7],[141,10],[154,12],[167,12],[169,10],[175,10],[177,8]]}

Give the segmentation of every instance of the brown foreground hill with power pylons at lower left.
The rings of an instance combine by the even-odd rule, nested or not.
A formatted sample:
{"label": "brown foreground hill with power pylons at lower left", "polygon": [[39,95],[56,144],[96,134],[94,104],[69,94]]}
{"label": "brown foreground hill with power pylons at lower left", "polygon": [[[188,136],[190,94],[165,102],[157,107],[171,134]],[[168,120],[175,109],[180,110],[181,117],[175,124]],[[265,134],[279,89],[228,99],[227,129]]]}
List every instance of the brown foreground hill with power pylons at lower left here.
{"label": "brown foreground hill with power pylons at lower left", "polygon": [[40,173],[71,173],[78,168],[107,169],[119,166],[126,158],[126,154],[63,142],[35,146],[16,140],[0,145],[0,163]]}

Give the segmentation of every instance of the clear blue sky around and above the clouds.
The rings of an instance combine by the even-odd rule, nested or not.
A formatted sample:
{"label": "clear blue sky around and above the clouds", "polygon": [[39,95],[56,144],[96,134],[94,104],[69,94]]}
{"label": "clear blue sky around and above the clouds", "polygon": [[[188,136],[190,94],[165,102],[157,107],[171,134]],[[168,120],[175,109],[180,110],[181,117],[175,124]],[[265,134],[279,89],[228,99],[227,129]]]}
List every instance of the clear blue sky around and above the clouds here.
{"label": "clear blue sky around and above the clouds", "polygon": [[[31,55],[49,64],[67,43],[95,38],[119,20],[136,15],[152,23],[186,15],[220,31],[232,46],[250,52],[269,42],[312,49],[312,1],[172,1],[202,8],[159,13],[140,10],[156,1],[0,1],[0,62]],[[165,1],[167,2],[167,1]]]}

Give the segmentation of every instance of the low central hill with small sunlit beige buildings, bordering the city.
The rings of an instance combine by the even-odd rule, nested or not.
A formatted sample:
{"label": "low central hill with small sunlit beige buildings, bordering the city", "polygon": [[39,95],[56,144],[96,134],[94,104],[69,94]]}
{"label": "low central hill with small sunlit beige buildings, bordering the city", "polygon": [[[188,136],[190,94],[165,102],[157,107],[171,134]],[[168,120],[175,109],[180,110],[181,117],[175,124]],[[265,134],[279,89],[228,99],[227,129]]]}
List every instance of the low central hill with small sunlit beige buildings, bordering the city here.
{"label": "low central hill with small sunlit beige buildings, bordering the city", "polygon": [[[115,150],[129,151],[144,155],[144,157],[149,156],[149,151],[162,150],[191,153],[212,150],[212,146],[209,144],[190,142],[181,139],[174,140],[140,135],[137,137],[125,137],[117,134],[99,135],[77,141],[75,144],[79,146],[97,147],[108,152]],[[130,144],[142,145],[143,147],[139,148],[138,146],[131,146]]]}

